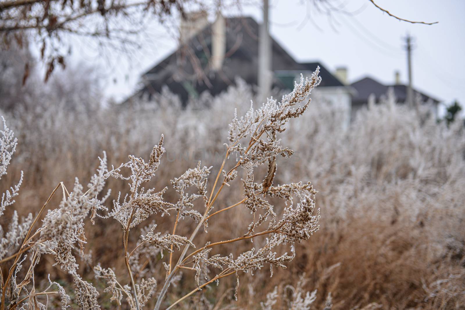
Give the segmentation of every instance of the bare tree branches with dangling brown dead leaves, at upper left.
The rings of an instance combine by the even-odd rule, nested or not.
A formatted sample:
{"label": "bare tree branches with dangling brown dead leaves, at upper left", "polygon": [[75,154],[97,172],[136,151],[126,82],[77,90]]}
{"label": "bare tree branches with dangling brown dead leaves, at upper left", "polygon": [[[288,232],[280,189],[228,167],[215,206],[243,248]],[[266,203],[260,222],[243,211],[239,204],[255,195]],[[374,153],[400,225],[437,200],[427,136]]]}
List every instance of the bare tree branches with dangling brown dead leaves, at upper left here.
{"label": "bare tree branches with dangling brown dead leaves, at upper left", "polygon": [[198,0],[0,0],[0,49],[35,41],[47,80],[56,65],[64,67],[70,35],[97,39],[101,47],[113,40],[137,48],[141,27],[153,17],[163,22],[183,15],[187,5],[202,7]]}

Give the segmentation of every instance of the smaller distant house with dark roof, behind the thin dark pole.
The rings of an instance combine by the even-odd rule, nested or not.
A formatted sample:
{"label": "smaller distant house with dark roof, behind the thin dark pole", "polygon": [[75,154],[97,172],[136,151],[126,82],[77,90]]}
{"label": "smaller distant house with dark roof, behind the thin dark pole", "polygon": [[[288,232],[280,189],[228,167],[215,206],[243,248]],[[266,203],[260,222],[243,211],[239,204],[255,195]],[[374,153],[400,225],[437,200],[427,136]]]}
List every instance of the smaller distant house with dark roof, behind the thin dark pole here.
{"label": "smaller distant house with dark roof, behind the thin dark pole", "polygon": [[[389,89],[392,89],[397,103],[407,102],[408,86],[401,84],[399,72],[395,74],[394,84],[385,85],[372,77],[364,77],[352,83],[351,86],[356,90],[355,95],[352,97],[352,116],[354,116],[357,110],[368,103],[368,98],[370,96],[374,96],[375,102],[379,102],[381,96],[385,96]],[[426,95],[419,90],[413,89],[413,92],[416,96],[420,97],[423,104],[428,106],[434,116],[438,116],[438,104],[440,101],[437,98]]]}

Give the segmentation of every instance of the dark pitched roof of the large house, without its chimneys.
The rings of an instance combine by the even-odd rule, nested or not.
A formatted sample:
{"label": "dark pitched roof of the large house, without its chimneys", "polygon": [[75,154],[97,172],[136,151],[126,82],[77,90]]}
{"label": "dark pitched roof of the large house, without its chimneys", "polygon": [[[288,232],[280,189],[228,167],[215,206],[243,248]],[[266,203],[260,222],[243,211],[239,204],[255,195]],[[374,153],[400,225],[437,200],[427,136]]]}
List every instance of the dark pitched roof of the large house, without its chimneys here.
{"label": "dark pitched roof of the large house, without its chimneys", "polygon": [[[160,92],[163,85],[181,97],[186,103],[190,96],[205,90],[217,95],[241,77],[247,84],[258,83],[258,33],[259,24],[251,17],[226,18],[226,58],[220,71],[208,69],[208,58],[212,50],[212,27],[206,26],[194,36],[187,46],[180,47],[143,76],[143,88],[139,94]],[[292,88],[294,78],[300,73],[314,71],[320,66],[323,79],[321,86],[342,86],[319,63],[297,63],[278,42],[272,39],[272,70],[287,71],[286,79],[273,79],[273,87]],[[194,70],[194,67],[202,70]],[[205,75],[198,75],[204,72]],[[288,80],[292,78],[291,84]],[[289,87],[290,86],[290,87]]]}

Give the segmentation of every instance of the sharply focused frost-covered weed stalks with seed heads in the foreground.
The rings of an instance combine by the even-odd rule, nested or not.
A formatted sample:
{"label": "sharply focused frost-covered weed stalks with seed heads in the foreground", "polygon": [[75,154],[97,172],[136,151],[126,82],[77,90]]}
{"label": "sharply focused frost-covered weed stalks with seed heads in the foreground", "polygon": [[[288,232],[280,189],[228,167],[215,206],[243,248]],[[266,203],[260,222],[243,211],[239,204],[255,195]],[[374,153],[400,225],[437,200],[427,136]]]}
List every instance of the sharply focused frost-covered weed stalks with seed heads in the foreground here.
{"label": "sharply focused frost-covered weed stalks with seed heads in the foreground", "polygon": [[[320,212],[315,210],[317,192],[310,183],[276,185],[278,163],[294,153],[282,145],[280,135],[286,130],[289,120],[302,116],[308,109],[308,96],[321,80],[318,74],[319,68],[312,77],[302,77],[281,102],[270,98],[258,110],[251,105],[245,116],[239,117],[235,113],[229,125],[224,160],[216,168],[218,172],[211,188],[207,181],[214,168],[202,167],[200,162],[171,181],[171,187],[178,195],[173,203],[163,197],[168,187],[156,189],[149,186],[163,166],[166,151],[162,135],[147,161],[130,155],[126,163],[109,168],[104,153],[97,174],[91,177],[86,190],[77,178],[71,191],[60,182],[35,218],[29,214],[19,221],[17,213],[14,213],[7,238],[2,238],[1,243],[1,263],[9,266],[6,272],[1,272],[1,310],[47,309],[49,299],[56,296],[60,297],[62,309],[66,309],[71,299],[81,309],[100,309],[97,287],[79,272],[78,260],[88,261],[85,252],[89,250],[86,249],[86,227],[89,223],[86,224],[86,219],[91,224],[95,224],[96,220],[104,223],[114,220],[121,227],[120,258],[124,260],[126,272],[101,264],[93,268],[96,279],[106,283],[101,293],[107,294],[118,307],[140,310],[148,307],[154,299],[155,310],[166,306],[166,309],[172,309],[208,284],[218,284],[219,279],[230,275],[236,278],[234,296],[237,299],[239,280],[244,273],[253,273],[267,266],[272,276],[273,266],[285,269],[286,263],[296,257],[296,243],[309,239],[319,229]],[[3,175],[15,150],[16,140],[6,125],[1,134]],[[267,167],[267,171],[260,170],[261,166]],[[259,177],[262,172],[263,176]],[[240,180],[239,175],[243,175]],[[126,189],[113,200],[111,208],[106,206],[111,191],[104,192],[109,179],[127,183]],[[20,185],[21,181],[4,194],[0,215],[13,204]],[[239,193],[237,201],[229,207],[217,207],[226,189],[232,190],[237,186],[242,187],[242,194],[233,192]],[[60,192],[62,199],[58,207],[48,209],[53,195]],[[272,199],[277,201],[276,206]],[[227,214],[234,213],[241,205],[248,209],[250,215],[244,227],[239,227],[239,231],[242,229],[239,235],[203,244],[196,242],[202,228],[206,232],[216,219],[229,217]],[[34,228],[46,209],[42,225]],[[171,219],[172,232],[159,230],[162,217]],[[179,222],[188,218],[196,223],[195,228],[186,236],[180,235],[177,230]],[[146,220],[152,222],[139,227]],[[141,232],[137,243],[131,238],[134,230]],[[229,255],[223,255],[219,250],[221,245],[242,240],[253,241],[256,246]],[[48,284],[44,285],[44,281],[39,279],[36,270],[43,257],[53,257],[55,265],[72,280],[73,298],[66,295],[58,282],[48,279]],[[164,272],[160,272],[156,263],[164,266]],[[186,273],[186,277],[190,273],[194,278],[192,291],[173,302],[165,302],[170,285],[180,280],[181,271]],[[157,281],[162,283],[158,290]],[[50,291],[53,286],[57,287],[56,291]],[[301,297],[300,291],[295,293],[294,307],[312,302],[310,297]]]}

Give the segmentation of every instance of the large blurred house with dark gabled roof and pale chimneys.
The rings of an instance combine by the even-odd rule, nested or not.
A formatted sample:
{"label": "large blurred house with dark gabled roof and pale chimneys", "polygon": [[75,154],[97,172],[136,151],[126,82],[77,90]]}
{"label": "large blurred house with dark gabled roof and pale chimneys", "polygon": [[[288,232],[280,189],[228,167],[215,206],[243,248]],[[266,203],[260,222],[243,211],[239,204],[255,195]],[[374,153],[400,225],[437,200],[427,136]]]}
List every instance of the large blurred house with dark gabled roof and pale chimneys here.
{"label": "large blurred house with dark gabled roof and pale chimneys", "polygon": [[[322,82],[314,93],[345,109],[351,107],[353,90],[320,62],[299,63],[271,38],[272,87],[293,89],[300,73],[310,76],[320,67]],[[213,96],[240,77],[258,84],[259,24],[251,17],[223,18],[213,23],[206,13],[191,13],[181,21],[179,48],[142,75],[142,88],[134,95],[150,100],[165,85],[184,105],[204,91]]]}

